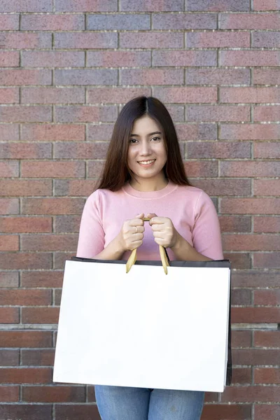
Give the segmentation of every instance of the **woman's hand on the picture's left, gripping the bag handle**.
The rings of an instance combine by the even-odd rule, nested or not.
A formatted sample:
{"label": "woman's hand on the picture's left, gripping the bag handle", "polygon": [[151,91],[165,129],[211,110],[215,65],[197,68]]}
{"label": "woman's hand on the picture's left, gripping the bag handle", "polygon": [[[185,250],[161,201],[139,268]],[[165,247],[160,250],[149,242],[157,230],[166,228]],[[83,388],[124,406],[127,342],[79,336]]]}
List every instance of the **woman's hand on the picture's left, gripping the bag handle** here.
{"label": "woman's hand on the picture's left, gripping the bag handle", "polygon": [[144,213],[137,214],[133,219],[125,221],[119,233],[120,246],[123,251],[132,251],[143,244]]}

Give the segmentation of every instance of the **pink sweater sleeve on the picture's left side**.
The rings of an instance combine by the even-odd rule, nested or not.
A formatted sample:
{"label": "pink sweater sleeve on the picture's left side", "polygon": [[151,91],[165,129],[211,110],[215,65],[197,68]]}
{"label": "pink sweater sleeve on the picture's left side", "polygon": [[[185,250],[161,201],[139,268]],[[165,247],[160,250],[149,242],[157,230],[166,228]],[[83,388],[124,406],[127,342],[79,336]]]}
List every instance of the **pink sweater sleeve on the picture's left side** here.
{"label": "pink sweater sleeve on the picture's left side", "polygon": [[99,212],[99,193],[94,191],[85,202],[80,221],[77,257],[93,258],[104,249],[104,229]]}

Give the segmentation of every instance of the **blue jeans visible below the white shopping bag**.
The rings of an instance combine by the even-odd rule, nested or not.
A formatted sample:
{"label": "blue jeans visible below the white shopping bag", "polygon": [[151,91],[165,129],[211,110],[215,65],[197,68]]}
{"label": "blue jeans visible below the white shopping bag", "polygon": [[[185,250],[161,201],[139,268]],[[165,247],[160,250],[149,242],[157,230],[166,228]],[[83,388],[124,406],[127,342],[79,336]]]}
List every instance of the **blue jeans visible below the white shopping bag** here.
{"label": "blue jeans visible below the white shopping bag", "polygon": [[204,392],[95,386],[102,420],[200,420]]}

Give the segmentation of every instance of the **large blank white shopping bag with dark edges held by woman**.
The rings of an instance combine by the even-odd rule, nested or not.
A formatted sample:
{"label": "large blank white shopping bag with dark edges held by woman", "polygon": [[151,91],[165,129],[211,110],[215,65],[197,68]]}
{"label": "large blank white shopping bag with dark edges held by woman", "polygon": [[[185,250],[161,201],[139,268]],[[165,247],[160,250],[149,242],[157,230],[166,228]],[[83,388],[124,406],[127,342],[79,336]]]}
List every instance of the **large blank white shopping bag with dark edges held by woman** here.
{"label": "large blank white shopping bag with dark edges held by woman", "polygon": [[53,380],[223,392],[230,262],[66,261]]}

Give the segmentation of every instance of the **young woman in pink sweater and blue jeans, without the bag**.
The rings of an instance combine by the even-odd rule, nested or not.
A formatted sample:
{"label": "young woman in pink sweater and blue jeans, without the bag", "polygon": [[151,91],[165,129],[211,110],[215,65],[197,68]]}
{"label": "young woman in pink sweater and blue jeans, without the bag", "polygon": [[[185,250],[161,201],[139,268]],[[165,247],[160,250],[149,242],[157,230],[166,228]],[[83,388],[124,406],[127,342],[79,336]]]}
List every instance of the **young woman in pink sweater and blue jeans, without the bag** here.
{"label": "young woman in pink sweater and blue jeans, without the bag", "polygon": [[[144,223],[144,218],[150,218]],[[80,223],[78,257],[221,260],[221,233],[210,197],[190,186],[172,118],[153,97],[120,111],[97,190]],[[204,393],[95,386],[102,420],[199,420]]]}

